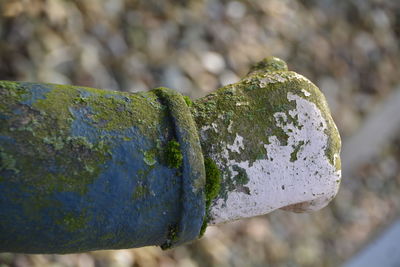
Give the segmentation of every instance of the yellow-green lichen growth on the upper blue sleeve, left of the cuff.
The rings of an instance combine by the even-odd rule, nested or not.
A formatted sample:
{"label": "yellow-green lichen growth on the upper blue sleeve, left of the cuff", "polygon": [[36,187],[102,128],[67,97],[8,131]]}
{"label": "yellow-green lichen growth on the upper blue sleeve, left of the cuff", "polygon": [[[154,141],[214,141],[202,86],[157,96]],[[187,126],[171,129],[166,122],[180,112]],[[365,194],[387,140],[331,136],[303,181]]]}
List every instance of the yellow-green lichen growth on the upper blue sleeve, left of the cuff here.
{"label": "yellow-green lichen growth on the upper blue sleeve, left of the cuff", "polygon": [[[72,134],[77,112],[83,114],[84,123],[92,126],[99,138],[88,140]],[[159,126],[156,122],[163,116],[164,106],[151,92],[129,94],[66,85],[1,82],[1,181],[19,181],[20,190],[30,196],[28,201],[36,207],[26,207],[26,213],[36,218],[38,210],[60,204],[48,201],[54,193],[87,192],[104,163],[111,159],[114,140],[127,139],[116,132],[136,127],[152,138]],[[147,156],[147,163],[153,164],[150,159],[154,157]],[[32,188],[42,193],[32,194]],[[26,201],[15,200],[23,207]]]}

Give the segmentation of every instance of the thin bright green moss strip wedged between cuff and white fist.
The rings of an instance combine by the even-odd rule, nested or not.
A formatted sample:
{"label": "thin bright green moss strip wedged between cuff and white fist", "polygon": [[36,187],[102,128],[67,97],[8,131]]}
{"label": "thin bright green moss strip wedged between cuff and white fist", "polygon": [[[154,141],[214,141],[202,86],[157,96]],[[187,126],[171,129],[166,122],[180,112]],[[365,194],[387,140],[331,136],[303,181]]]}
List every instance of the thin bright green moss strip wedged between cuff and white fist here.
{"label": "thin bright green moss strip wedged between cuff and white fist", "polygon": [[201,226],[199,237],[203,236],[206,231],[211,203],[218,196],[221,189],[221,172],[219,171],[217,164],[215,164],[211,158],[205,158],[204,166],[206,170],[206,215],[203,220],[203,225]]}

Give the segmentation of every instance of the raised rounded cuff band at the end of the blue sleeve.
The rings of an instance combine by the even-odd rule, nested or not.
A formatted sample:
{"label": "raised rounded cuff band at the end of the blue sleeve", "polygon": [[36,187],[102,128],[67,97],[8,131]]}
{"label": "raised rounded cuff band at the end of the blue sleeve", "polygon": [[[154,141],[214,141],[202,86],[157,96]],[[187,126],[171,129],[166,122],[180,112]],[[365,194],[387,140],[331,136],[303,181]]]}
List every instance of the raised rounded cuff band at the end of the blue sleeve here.
{"label": "raised rounded cuff band at the end of the blue sleeve", "polygon": [[[170,228],[167,242],[162,246],[166,249],[192,241],[199,236],[205,217],[206,175],[200,140],[187,105],[188,101],[172,89],[161,87],[153,91],[168,106],[175,136],[182,152],[182,185],[179,205],[181,214],[179,223]],[[162,201],[159,203],[163,205]]]}

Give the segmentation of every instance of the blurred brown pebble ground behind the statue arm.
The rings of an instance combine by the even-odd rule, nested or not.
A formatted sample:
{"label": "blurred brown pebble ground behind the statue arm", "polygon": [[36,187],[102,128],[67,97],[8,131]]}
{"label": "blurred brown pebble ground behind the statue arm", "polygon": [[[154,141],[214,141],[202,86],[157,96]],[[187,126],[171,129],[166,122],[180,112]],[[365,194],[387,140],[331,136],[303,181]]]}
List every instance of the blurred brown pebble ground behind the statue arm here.
{"label": "blurred brown pebble ground behind the statue arm", "polygon": [[340,266],[399,215],[400,1],[0,0],[0,14],[0,79],[196,98],[273,55],[321,88],[343,140],[321,211],[209,227],[168,251],[2,253],[1,267]]}

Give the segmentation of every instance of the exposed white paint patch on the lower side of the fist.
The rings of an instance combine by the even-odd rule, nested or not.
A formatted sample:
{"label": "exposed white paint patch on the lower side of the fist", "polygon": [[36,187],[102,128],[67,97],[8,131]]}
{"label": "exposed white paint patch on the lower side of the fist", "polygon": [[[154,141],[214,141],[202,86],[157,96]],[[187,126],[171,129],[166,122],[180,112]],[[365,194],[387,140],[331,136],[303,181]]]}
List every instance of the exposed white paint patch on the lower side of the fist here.
{"label": "exposed white paint patch on the lower side of the fist", "polygon": [[216,155],[215,159],[223,158],[217,160],[217,164],[226,165],[224,162],[227,161],[232,173],[235,173],[235,165],[246,170],[249,182],[245,186],[249,192],[232,191],[226,202],[219,199],[214,203],[210,224],[262,215],[288,206],[292,210],[317,210],[336,195],[341,173],[325,155],[328,137],[324,130],[327,125],[321,111],[298,95],[288,93],[287,98],[296,101],[297,108],[289,115],[298,117],[297,124],[288,121],[283,112],[273,115],[276,124],[288,135],[287,145],[281,144],[276,136],[270,136],[269,144],[263,144],[267,158],[256,160],[250,166],[249,161],[237,162],[229,158],[228,150],[239,152],[245,149],[243,137],[236,135],[233,144],[227,145],[222,155]]}

